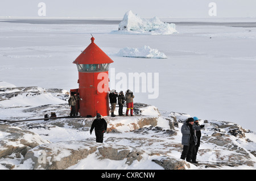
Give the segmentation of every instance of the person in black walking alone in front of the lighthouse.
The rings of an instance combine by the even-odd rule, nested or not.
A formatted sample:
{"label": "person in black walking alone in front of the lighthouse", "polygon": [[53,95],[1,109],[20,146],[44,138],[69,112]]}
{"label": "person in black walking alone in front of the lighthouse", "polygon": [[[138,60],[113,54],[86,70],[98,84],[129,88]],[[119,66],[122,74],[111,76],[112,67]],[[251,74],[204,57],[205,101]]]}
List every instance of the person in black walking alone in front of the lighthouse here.
{"label": "person in black walking alone in front of the lighthouse", "polygon": [[94,119],[92,123],[92,127],[90,127],[90,134],[92,134],[93,129],[95,128],[96,142],[103,142],[103,135],[106,133],[107,123],[106,120],[97,113],[96,119]]}

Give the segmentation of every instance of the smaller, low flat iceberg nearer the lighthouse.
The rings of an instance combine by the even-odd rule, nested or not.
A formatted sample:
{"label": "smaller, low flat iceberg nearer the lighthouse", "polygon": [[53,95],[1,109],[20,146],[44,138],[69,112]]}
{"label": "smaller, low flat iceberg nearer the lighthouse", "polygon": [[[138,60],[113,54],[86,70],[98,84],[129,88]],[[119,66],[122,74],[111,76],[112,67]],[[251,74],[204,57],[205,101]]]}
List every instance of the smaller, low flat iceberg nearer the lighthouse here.
{"label": "smaller, low flat iceberg nearer the lighthouse", "polygon": [[158,49],[152,49],[146,45],[141,48],[125,47],[119,50],[117,56],[133,58],[167,58],[167,56],[164,53],[159,52]]}

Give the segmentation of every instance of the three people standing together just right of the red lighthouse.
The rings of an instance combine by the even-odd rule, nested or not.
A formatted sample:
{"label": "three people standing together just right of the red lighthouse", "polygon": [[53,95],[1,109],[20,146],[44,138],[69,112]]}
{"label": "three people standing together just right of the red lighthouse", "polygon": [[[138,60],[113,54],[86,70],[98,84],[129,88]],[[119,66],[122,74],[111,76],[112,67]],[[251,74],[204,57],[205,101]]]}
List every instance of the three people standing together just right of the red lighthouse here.
{"label": "three people standing together just right of the red lighthouse", "polygon": [[119,94],[114,89],[110,91],[109,93],[109,100],[111,104],[111,116],[115,117],[114,111],[115,111],[115,105],[118,101],[118,115],[123,116],[123,105],[126,102],[126,116],[128,116],[129,111],[130,115],[133,116],[133,92],[130,90],[127,90],[125,92],[125,95],[123,94],[123,91],[120,91]]}

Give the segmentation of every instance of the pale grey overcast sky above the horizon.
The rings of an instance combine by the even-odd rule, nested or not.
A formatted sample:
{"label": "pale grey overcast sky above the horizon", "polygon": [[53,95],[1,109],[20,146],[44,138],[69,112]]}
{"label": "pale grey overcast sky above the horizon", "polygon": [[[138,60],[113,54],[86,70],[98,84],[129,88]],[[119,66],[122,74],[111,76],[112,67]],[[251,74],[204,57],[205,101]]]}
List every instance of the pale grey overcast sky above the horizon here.
{"label": "pale grey overcast sky above the horizon", "polygon": [[[39,3],[43,2],[43,6]],[[214,7],[210,3],[214,3]],[[209,10],[214,8],[214,15]],[[122,19],[131,10],[143,18],[256,17],[255,0],[1,0],[0,17]],[[44,12],[43,14],[39,13]],[[42,11],[43,10],[43,11]]]}

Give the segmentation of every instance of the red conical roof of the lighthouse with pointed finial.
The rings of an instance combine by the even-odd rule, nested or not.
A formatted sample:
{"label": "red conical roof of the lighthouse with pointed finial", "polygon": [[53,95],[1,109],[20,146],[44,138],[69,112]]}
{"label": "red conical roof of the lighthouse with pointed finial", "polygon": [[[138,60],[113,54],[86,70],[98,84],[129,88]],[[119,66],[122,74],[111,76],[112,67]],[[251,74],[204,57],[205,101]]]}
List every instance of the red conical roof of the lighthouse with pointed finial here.
{"label": "red conical roof of the lighthouse with pointed finial", "polygon": [[94,37],[90,40],[92,40],[92,43],[82,51],[76,60],[73,61],[73,64],[110,64],[114,62],[94,43]]}

